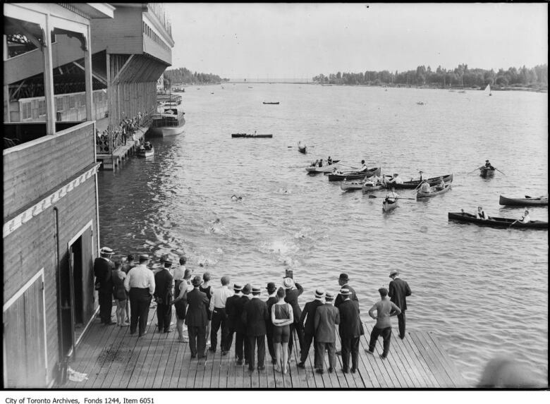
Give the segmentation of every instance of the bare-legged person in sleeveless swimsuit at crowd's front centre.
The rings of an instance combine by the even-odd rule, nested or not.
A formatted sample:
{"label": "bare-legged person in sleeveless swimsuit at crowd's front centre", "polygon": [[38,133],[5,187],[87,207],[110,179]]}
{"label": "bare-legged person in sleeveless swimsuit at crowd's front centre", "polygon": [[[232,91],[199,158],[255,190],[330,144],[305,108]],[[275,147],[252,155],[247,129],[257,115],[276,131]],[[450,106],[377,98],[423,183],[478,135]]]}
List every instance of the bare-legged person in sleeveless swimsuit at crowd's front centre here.
{"label": "bare-legged person in sleeveless swimsuit at crowd's front centre", "polygon": [[288,341],[291,338],[290,324],[294,322],[292,306],[285,302],[285,295],[285,290],[279,288],[277,290],[277,302],[271,307],[271,322],[274,325],[273,345],[277,362],[275,370],[276,372],[283,372],[283,374],[286,374],[288,364]]}

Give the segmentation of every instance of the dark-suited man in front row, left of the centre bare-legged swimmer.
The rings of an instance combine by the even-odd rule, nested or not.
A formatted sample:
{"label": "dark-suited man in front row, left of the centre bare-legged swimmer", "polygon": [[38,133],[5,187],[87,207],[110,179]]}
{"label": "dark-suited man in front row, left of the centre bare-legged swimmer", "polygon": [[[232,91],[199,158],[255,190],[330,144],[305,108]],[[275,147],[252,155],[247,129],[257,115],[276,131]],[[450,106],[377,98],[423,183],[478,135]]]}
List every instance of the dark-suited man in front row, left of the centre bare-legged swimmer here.
{"label": "dark-suited man in front row, left of the centre bare-legged swimmer", "polygon": [[252,288],[252,299],[243,307],[242,320],[246,324],[246,336],[248,338],[248,370],[254,370],[256,344],[258,345],[258,370],[265,369],[265,323],[269,319],[267,304],[260,300],[260,288]]}

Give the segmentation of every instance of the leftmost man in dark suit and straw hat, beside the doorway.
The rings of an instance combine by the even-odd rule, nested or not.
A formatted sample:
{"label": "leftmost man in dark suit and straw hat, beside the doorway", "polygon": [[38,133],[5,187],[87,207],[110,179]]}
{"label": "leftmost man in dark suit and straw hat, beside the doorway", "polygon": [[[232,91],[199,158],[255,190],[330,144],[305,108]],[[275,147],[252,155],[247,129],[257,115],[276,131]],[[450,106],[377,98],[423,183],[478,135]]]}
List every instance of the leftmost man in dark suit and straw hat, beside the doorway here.
{"label": "leftmost man in dark suit and straw hat, beside the doorway", "polygon": [[114,262],[111,261],[111,257],[114,252],[109,247],[103,247],[99,251],[99,254],[101,257],[97,257],[94,260],[94,275],[99,300],[99,318],[102,320],[102,324],[110,326],[116,324],[111,321],[111,312],[113,310],[113,278],[111,273],[114,270]]}

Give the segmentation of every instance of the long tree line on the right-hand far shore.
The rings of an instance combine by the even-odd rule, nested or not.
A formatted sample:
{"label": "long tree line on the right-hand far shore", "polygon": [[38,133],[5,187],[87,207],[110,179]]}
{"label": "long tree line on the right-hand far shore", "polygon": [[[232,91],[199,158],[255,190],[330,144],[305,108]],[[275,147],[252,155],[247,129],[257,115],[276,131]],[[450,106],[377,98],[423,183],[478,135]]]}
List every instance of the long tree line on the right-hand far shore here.
{"label": "long tree line on the right-hand far shore", "polygon": [[390,71],[365,71],[365,73],[319,74],[313,78],[319,84],[346,85],[412,85],[428,87],[548,87],[548,65],[534,68],[511,67],[495,72],[493,69],[468,68],[467,64],[448,70],[438,66],[432,71],[430,66],[418,66],[416,70],[392,73]]}

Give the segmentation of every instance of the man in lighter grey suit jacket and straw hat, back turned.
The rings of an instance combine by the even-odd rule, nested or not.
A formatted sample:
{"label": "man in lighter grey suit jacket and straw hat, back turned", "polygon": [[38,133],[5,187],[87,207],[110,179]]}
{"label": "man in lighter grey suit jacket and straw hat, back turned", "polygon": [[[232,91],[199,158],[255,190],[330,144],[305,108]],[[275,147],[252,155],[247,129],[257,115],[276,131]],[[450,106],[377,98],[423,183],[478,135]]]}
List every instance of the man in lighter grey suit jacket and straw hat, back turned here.
{"label": "man in lighter grey suit jacket and straw hat, back turned", "polygon": [[334,295],[326,292],[325,304],[315,310],[315,369],[323,374],[324,351],[329,351],[329,373],[336,367],[336,324],[340,324],[340,312],[334,307]]}

